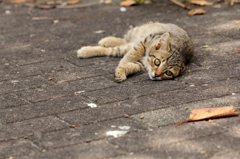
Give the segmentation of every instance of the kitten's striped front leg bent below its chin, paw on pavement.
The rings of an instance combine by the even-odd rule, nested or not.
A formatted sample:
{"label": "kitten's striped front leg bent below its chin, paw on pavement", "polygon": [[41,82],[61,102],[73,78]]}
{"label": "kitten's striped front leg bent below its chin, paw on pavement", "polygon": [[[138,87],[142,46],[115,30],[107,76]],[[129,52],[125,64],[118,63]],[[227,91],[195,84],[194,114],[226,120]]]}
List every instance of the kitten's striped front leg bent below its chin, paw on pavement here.
{"label": "kitten's striped front leg bent below its chin, paw on pavement", "polygon": [[128,75],[132,75],[141,71],[144,71],[145,67],[141,62],[128,62],[120,65],[115,70],[115,80],[122,82],[127,79]]}

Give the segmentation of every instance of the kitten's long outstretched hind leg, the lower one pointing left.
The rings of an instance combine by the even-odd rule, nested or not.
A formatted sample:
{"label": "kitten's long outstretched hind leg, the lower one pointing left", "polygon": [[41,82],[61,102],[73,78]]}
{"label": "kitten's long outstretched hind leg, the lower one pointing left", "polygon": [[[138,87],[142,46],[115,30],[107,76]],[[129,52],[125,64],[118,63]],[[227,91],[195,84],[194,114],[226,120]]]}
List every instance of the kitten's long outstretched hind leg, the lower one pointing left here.
{"label": "kitten's long outstretched hind leg, the lower one pointing left", "polygon": [[103,47],[103,46],[85,46],[77,51],[78,58],[90,58],[97,56],[112,56],[123,57],[131,46],[129,44],[120,45],[116,47]]}

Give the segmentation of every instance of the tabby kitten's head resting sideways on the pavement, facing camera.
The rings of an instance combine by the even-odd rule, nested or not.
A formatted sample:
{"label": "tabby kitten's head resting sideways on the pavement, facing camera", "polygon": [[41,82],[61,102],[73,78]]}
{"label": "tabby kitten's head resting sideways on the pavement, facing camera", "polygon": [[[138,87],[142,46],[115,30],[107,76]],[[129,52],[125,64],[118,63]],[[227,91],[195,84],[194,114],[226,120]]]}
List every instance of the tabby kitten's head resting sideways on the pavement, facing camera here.
{"label": "tabby kitten's head resting sideways on the pavement, facing camera", "polygon": [[179,76],[185,70],[185,65],[180,53],[171,49],[170,34],[164,33],[154,41],[145,57],[150,79],[174,79]]}

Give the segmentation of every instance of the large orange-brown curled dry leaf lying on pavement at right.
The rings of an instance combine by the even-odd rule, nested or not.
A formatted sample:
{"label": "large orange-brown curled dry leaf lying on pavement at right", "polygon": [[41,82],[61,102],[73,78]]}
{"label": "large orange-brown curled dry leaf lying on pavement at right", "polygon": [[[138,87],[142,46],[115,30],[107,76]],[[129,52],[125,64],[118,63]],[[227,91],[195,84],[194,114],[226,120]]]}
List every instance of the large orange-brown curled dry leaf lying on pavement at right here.
{"label": "large orange-brown curled dry leaf lying on pavement at right", "polygon": [[204,119],[213,119],[213,118],[237,116],[237,115],[238,115],[237,108],[233,106],[193,109],[188,119],[178,122],[175,126],[178,126],[180,124],[183,124],[189,121],[198,121],[198,120],[204,120]]}

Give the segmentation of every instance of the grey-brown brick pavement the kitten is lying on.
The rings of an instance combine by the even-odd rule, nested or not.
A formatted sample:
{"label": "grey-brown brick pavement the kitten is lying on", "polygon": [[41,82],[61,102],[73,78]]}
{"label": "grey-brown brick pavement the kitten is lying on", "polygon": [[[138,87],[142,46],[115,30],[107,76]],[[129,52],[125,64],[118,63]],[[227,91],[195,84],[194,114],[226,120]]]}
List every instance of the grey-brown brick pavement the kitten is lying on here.
{"label": "grey-brown brick pavement the kitten is lying on", "polygon": [[[28,7],[1,4],[0,158],[240,158],[240,117],[174,127],[193,108],[239,110],[239,4],[190,17],[168,1],[126,12],[118,2],[34,9],[33,17]],[[119,84],[119,58],[76,58],[80,47],[148,21],[177,24],[194,42],[193,61],[176,80],[143,73]]]}

